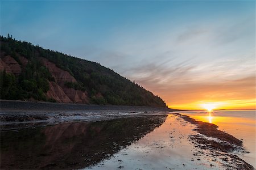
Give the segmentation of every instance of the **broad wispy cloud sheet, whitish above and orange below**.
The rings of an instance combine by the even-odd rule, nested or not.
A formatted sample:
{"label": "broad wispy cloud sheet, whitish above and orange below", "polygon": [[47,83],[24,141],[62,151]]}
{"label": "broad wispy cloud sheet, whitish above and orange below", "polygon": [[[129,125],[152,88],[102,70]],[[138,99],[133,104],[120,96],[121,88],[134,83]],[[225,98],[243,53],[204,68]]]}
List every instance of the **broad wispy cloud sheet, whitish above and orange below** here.
{"label": "broad wispy cloud sheet, whitish above and orange below", "polygon": [[[94,59],[135,80],[170,105],[250,100],[255,98],[254,49],[238,43],[252,39],[242,35],[246,30],[243,26],[229,33],[238,26],[186,28],[175,35],[160,36],[154,43],[141,40],[123,44],[122,50],[118,46],[115,50],[98,50]],[[236,32],[240,36],[228,41]],[[137,48],[133,49],[134,45]]]}

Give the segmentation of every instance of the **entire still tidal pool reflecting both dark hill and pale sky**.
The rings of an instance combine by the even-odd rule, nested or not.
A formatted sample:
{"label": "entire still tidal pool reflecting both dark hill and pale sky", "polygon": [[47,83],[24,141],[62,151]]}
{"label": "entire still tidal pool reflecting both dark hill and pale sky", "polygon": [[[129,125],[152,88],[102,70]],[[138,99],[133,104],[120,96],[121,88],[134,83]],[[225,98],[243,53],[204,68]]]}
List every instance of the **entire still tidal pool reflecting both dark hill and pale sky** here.
{"label": "entire still tidal pool reflecting both dark hill and pale sky", "polygon": [[1,169],[226,169],[201,150],[195,125],[176,114],[60,122],[1,131]]}

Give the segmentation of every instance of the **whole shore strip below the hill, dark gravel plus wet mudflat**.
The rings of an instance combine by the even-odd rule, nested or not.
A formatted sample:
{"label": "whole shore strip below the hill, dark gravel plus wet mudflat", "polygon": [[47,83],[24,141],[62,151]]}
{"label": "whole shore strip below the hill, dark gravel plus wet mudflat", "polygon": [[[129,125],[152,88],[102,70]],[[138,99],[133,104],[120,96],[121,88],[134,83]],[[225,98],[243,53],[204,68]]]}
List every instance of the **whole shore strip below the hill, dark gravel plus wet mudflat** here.
{"label": "whole shore strip below the hill, dark gravel plus wet mudflat", "polygon": [[143,116],[173,109],[144,106],[86,105],[0,100],[0,130]]}

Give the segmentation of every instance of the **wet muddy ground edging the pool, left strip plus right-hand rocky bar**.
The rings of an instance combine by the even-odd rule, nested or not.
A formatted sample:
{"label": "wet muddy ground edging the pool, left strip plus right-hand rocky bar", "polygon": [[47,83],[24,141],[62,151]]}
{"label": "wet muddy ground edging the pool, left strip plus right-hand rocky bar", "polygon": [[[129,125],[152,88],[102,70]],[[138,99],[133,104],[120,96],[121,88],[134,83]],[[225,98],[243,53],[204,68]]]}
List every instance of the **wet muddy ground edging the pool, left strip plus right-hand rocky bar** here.
{"label": "wet muddy ground edging the pool, left strip plus right-hand rocky bar", "polygon": [[[93,108],[94,107],[95,106],[93,106]],[[28,108],[27,110],[20,111],[16,108],[12,110],[14,112],[9,112],[10,110],[5,110],[5,113],[0,114],[1,131],[33,127],[35,128],[36,126],[54,126],[57,124],[62,124],[64,122],[97,122],[115,120],[118,118],[139,118],[144,116],[152,116],[152,118],[154,118],[154,116],[156,115],[173,114],[184,120],[185,122],[196,126],[196,128],[192,130],[197,131],[199,134],[190,135],[189,140],[193,143],[193,145],[200,148],[200,150],[210,150],[211,152],[209,152],[209,154],[212,155],[213,161],[216,156],[219,157],[221,155],[223,156],[222,162],[227,163],[226,168],[230,168],[228,166],[230,164],[234,164],[239,169],[255,169],[252,165],[246,163],[244,160],[234,154],[234,151],[243,153],[247,152],[242,145],[242,141],[228,133],[225,133],[224,131],[218,130],[217,125],[202,121],[196,121],[195,119],[186,116],[185,114],[171,113],[168,111],[159,110],[146,110],[152,109],[151,107],[148,108],[114,106],[110,107],[111,109],[105,111],[97,110],[98,108],[102,108],[98,106],[96,107],[96,109],[94,108],[93,111],[58,111],[57,109],[53,111],[49,111],[48,109],[44,109],[43,111],[36,111],[35,108]],[[121,110],[114,110],[115,108],[121,108]],[[124,111],[122,110],[124,108],[130,110]],[[135,108],[140,108],[141,110],[135,110]],[[202,152],[197,152],[195,153],[195,155],[202,156]]]}

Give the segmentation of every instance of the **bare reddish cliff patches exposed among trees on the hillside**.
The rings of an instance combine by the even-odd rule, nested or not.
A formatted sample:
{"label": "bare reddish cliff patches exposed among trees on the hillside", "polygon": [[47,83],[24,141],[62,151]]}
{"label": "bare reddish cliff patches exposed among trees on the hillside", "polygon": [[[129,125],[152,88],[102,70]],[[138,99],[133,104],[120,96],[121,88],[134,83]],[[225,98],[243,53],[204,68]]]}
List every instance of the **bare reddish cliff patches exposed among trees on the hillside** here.
{"label": "bare reddish cliff patches exposed among trees on the hillside", "polygon": [[[7,73],[13,73],[19,75],[23,69],[26,69],[28,59],[17,54],[21,65],[11,56],[5,56],[5,53],[1,53],[0,58],[0,71],[5,70]],[[76,79],[68,73],[68,71],[62,70],[55,65],[55,63],[49,62],[46,58],[39,57],[43,65],[46,66],[56,82],[48,82],[49,90],[46,96],[49,99],[55,99],[60,103],[89,103],[88,94],[86,91],[75,90],[73,88],[65,87],[65,82],[77,82]]]}

